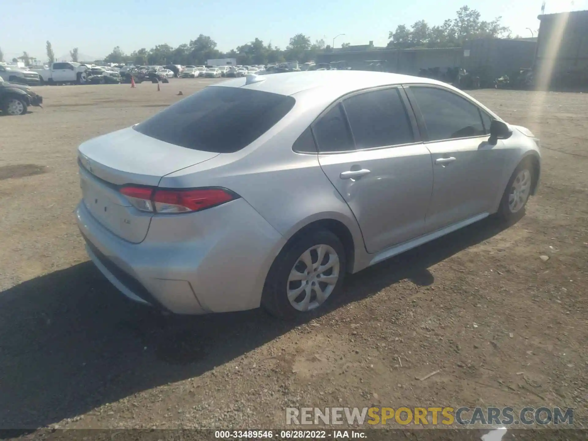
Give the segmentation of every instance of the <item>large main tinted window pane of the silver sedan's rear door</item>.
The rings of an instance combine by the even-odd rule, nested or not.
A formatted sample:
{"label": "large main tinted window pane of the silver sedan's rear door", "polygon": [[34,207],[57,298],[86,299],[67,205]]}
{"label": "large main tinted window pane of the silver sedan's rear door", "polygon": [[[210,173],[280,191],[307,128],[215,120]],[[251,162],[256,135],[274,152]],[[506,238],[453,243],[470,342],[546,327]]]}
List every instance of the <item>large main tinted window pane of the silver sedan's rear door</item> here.
{"label": "large main tinted window pane of the silver sedan's rear door", "polygon": [[356,149],[406,144],[415,140],[398,89],[350,96],[343,105]]}

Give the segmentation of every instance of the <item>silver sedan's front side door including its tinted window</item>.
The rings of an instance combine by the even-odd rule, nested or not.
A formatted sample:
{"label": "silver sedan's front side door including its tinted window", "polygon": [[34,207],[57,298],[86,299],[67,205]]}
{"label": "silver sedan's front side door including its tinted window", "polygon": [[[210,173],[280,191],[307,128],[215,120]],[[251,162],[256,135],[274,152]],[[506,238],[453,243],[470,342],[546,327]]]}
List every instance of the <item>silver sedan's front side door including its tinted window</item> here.
{"label": "silver sedan's front side door including its tinted window", "polygon": [[407,94],[433,159],[427,232],[488,212],[505,163],[504,143],[488,143],[490,115],[442,86],[411,85]]}

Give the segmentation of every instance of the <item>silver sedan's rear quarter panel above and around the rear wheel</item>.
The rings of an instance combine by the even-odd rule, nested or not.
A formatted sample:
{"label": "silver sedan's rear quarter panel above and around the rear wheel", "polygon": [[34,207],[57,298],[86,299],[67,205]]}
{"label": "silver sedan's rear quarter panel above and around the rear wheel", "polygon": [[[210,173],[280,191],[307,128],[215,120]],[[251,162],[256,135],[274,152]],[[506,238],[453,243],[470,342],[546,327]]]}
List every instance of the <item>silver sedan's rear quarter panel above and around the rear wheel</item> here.
{"label": "silver sedan's rear quarter panel above and around the rear wheel", "polygon": [[283,236],[272,261],[296,232],[321,219],[339,220],[349,229],[357,258],[365,246],[349,206],[323,173],[318,155],[292,151],[326,105],[320,99],[297,100],[285,118],[246,148],[166,175],[159,186],[222,186],[238,193]]}

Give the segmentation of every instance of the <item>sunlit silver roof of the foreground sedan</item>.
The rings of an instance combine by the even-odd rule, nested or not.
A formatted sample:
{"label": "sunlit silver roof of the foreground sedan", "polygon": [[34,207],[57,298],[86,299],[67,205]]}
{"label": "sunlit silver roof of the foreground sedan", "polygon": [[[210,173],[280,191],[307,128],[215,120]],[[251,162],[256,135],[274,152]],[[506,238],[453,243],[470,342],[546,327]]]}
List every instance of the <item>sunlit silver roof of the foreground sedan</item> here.
{"label": "sunlit silver roof of the foreground sedan", "polygon": [[331,88],[336,93],[357,91],[360,89],[393,84],[427,83],[446,85],[440,81],[419,76],[389,74],[370,71],[303,71],[282,74],[260,75],[263,81],[246,84],[245,78],[230,79],[213,86],[242,87],[262,92],[293,95],[314,88]]}

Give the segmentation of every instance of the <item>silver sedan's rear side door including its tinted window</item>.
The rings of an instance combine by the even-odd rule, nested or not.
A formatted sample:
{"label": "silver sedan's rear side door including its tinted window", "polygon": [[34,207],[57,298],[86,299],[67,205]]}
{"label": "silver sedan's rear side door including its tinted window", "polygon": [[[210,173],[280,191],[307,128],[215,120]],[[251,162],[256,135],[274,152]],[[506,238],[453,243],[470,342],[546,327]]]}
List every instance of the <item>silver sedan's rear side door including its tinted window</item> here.
{"label": "silver sedan's rear side door including its tinted window", "polygon": [[420,142],[402,88],[348,96],[313,123],[319,163],[376,253],[425,229],[433,186],[430,153]]}

